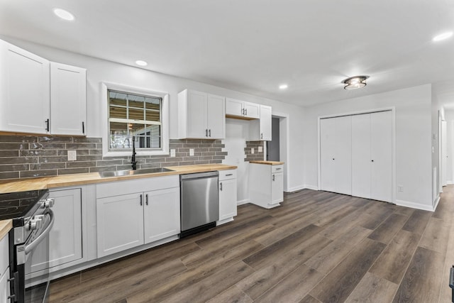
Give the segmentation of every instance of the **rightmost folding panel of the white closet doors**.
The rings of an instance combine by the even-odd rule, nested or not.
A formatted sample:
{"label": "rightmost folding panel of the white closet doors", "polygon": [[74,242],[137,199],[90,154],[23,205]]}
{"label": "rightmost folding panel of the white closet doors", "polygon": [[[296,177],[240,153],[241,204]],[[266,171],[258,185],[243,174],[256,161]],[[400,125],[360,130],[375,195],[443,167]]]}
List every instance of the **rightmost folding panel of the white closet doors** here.
{"label": "rightmost folding panel of the white closet doors", "polygon": [[370,198],[392,200],[392,113],[370,114]]}

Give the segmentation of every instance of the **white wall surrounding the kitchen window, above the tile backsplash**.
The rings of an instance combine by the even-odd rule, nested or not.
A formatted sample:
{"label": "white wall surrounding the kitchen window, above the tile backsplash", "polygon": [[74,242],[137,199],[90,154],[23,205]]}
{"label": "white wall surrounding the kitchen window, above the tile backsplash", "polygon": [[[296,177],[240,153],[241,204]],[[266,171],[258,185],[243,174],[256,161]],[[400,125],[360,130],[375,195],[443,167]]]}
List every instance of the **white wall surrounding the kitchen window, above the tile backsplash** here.
{"label": "white wall surrounding the kitchen window, above the tile backsplash", "polygon": [[[121,65],[115,62],[101,60],[94,57],[70,53],[64,50],[57,50],[55,48],[48,48],[43,45],[29,43],[23,40],[17,40],[9,37],[1,37],[14,45],[18,45],[36,55],[45,57],[48,60],[61,62],[68,65],[75,65],[87,68],[87,136],[88,137],[101,137],[101,125],[107,123],[106,117],[101,116],[101,106],[106,105],[106,101],[101,99],[101,82],[112,82],[117,84],[128,85],[132,87],[140,87],[160,92],[167,92],[170,94],[170,138],[177,138],[177,94],[183,89],[195,89],[202,92],[209,92],[211,94],[218,94],[221,96],[232,97],[244,101],[255,102],[258,104],[265,104],[272,106],[273,114],[275,112],[288,115],[289,121],[289,157],[287,158],[287,189],[299,189],[303,187],[303,158],[301,155],[303,149],[303,136],[301,129],[303,126],[303,112],[304,109],[299,106],[285,104],[280,101],[256,97],[250,94],[233,91],[231,89],[224,89],[222,87],[215,87],[213,85],[195,82],[189,79],[173,77],[170,75],[160,74],[158,72],[150,72],[138,67],[131,67]],[[133,58],[131,58],[133,60]],[[153,67],[153,62],[150,62]],[[228,146],[226,151],[229,155],[237,155],[244,153],[240,144],[231,144],[233,135],[238,132],[236,127],[243,125],[243,122],[230,121],[228,119],[226,126],[226,136],[228,136]],[[244,131],[244,130],[243,130]],[[243,138],[244,140],[244,138]],[[241,159],[240,161],[242,161]],[[238,165],[238,163],[230,162],[229,156],[226,161],[228,164]],[[243,164],[240,165],[243,167]],[[244,167],[243,167],[244,168]],[[241,168],[241,169],[243,169]],[[244,172],[245,173],[245,172]],[[244,198],[245,188],[247,184],[238,182],[238,195],[239,200]]]}

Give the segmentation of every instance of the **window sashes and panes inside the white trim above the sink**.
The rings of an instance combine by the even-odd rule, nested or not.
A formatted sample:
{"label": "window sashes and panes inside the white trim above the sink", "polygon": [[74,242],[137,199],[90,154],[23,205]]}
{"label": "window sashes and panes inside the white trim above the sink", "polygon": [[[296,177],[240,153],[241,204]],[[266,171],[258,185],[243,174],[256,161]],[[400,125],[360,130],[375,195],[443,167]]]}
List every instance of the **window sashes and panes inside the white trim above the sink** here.
{"label": "window sashes and panes inside the white trim above the sink", "polygon": [[162,98],[108,90],[109,150],[162,147]]}

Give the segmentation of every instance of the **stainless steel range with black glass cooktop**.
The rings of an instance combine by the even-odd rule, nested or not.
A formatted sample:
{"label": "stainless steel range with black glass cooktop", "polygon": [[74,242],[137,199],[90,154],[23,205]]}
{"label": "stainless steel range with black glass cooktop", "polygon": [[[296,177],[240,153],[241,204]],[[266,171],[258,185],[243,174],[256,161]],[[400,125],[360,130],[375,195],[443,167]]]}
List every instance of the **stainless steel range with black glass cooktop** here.
{"label": "stainless steel range with black glass cooktop", "polygon": [[[31,280],[31,260],[39,243],[48,243],[54,224],[48,190],[0,194],[0,219],[13,219],[9,232],[11,303],[48,302],[49,275]],[[43,247],[45,252],[43,253]],[[39,259],[48,262],[49,245],[40,245]]]}

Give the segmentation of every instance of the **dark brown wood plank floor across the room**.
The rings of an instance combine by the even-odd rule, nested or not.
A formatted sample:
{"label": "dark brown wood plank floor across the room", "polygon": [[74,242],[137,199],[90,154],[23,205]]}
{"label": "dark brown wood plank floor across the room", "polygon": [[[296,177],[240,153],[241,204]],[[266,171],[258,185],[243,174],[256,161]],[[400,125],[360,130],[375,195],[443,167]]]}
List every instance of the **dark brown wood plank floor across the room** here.
{"label": "dark brown wood plank floor across the room", "polygon": [[435,212],[317,192],[53,281],[50,302],[451,302],[454,186]]}

